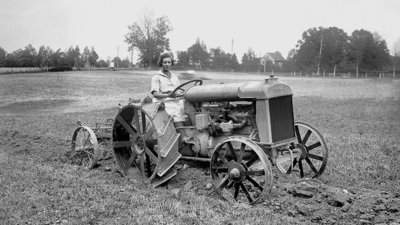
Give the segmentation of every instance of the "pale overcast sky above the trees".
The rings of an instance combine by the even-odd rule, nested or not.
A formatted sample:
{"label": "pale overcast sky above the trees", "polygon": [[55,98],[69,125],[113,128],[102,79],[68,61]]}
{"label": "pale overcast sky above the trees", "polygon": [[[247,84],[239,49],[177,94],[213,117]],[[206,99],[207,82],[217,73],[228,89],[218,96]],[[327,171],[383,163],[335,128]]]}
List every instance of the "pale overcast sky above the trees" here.
{"label": "pale overcast sky above the trees", "polygon": [[128,25],[144,11],[169,18],[174,53],[199,38],[238,59],[249,48],[286,57],[305,30],[319,26],[378,32],[390,51],[400,38],[400,0],[0,0],[0,47],[93,46],[102,59],[124,59]]}

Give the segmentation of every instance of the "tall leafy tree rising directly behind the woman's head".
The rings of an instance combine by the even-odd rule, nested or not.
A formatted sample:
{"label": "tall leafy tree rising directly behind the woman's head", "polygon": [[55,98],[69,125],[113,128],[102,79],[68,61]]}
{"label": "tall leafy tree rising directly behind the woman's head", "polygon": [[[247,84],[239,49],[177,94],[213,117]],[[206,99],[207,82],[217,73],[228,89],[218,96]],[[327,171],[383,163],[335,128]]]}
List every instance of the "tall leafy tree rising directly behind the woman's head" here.
{"label": "tall leafy tree rising directly behind the woman's head", "polygon": [[149,13],[144,13],[140,23],[135,22],[128,26],[129,32],[125,35],[129,51],[138,50],[139,60],[147,66],[157,66],[159,55],[169,50],[169,39],[166,37],[172,30],[167,16],[153,19]]}

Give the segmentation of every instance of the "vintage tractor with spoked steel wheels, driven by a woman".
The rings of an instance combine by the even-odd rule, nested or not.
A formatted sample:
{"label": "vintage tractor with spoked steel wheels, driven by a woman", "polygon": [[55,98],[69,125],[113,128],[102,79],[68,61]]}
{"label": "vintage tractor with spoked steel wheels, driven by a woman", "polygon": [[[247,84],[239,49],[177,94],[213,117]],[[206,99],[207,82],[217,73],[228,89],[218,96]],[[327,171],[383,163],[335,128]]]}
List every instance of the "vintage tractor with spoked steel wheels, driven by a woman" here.
{"label": "vintage tractor with spoked steel wheels, driven by a woman", "polygon": [[177,90],[184,91],[185,126],[174,126],[163,103],[142,101],[117,113],[111,144],[124,175],[139,174],[158,186],[177,174],[179,159],[209,162],[213,186],[224,199],[253,204],[272,187],[271,165],[300,177],[324,171],[324,138],[294,122],[292,90],[277,78],[209,85],[191,80],[171,96]]}

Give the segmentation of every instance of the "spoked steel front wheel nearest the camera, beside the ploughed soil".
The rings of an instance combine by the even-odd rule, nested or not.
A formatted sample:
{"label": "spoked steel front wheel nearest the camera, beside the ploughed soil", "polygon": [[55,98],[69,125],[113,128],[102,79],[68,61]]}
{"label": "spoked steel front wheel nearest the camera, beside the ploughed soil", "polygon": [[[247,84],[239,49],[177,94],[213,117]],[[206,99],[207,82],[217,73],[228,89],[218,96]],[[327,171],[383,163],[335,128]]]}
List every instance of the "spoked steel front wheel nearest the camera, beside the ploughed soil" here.
{"label": "spoked steel front wheel nearest the camera, beside the ploughed soil", "polygon": [[263,149],[244,137],[230,137],[213,151],[210,171],[215,190],[226,200],[254,204],[272,187],[271,164]]}

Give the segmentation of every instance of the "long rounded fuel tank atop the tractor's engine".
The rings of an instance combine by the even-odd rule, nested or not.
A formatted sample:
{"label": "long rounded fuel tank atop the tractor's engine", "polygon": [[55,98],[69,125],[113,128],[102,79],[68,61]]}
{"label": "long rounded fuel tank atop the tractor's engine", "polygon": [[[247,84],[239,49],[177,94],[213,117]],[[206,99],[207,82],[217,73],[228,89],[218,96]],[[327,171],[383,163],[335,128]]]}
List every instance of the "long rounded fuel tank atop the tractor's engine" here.
{"label": "long rounded fuel tank atop the tractor's engine", "polygon": [[289,85],[271,77],[263,81],[193,86],[186,90],[184,96],[189,102],[219,102],[253,101],[288,95],[293,95]]}

